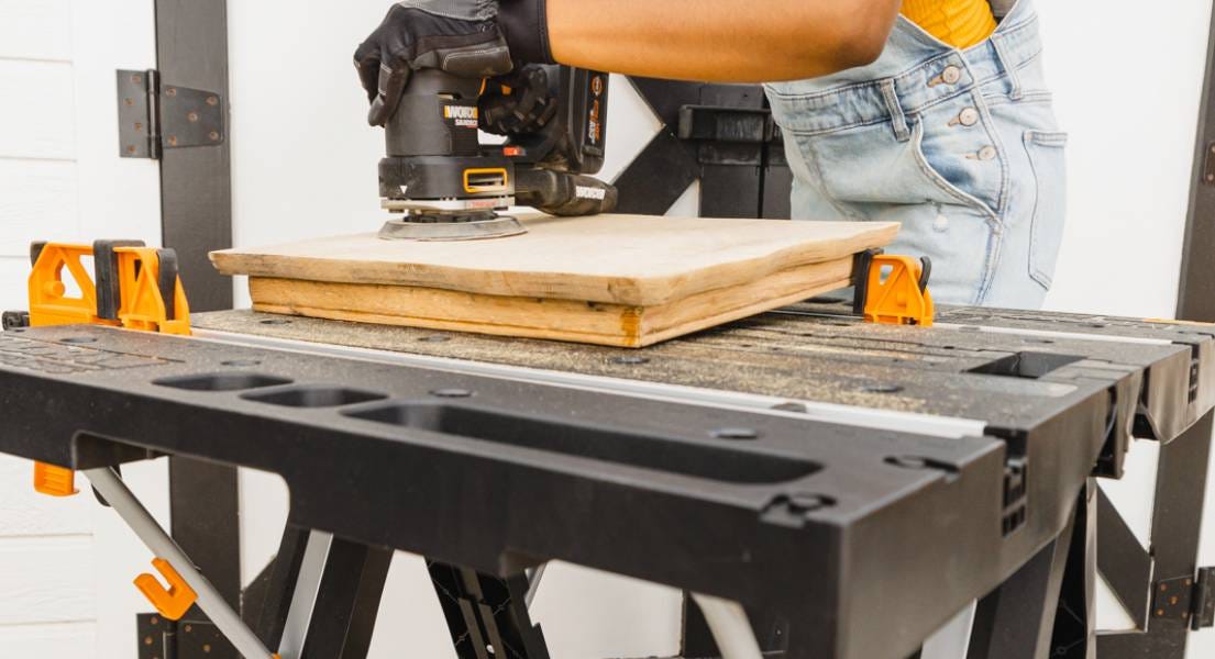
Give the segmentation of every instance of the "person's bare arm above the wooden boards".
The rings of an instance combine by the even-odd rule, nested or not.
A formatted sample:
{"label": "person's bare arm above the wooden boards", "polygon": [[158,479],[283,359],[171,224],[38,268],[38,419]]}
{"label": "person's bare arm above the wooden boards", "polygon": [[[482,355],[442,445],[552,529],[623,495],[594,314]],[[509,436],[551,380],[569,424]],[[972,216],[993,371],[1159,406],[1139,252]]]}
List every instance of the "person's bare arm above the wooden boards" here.
{"label": "person's bare arm above the wooden boards", "polygon": [[762,83],[825,75],[882,52],[900,0],[548,0],[563,64]]}

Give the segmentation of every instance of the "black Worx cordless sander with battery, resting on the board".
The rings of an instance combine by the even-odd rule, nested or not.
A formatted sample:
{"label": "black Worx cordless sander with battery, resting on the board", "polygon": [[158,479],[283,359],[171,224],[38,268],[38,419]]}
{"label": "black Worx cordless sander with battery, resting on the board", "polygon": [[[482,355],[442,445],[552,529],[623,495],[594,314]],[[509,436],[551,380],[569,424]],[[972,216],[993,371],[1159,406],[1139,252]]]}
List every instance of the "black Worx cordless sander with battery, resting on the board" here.
{"label": "black Worx cordless sander with battery, resting on the board", "polygon": [[[382,205],[400,214],[385,239],[468,240],[525,233],[498,211],[533,206],[594,215],[616,205],[598,178],[604,160],[608,74],[527,64],[504,80],[439,69],[409,78],[385,125]],[[480,130],[505,141],[482,144]]]}

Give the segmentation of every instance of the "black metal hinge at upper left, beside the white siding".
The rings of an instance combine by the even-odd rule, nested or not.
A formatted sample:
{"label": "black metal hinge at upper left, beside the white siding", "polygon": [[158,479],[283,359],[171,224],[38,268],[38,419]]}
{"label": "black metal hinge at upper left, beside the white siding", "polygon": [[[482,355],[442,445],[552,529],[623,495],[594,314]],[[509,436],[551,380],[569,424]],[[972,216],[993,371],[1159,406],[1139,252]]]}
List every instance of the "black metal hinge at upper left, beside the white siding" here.
{"label": "black metal hinge at upper left, beside the white siding", "polygon": [[118,138],[123,158],[157,159],[164,149],[224,143],[224,97],[171,85],[156,69],[118,72]]}

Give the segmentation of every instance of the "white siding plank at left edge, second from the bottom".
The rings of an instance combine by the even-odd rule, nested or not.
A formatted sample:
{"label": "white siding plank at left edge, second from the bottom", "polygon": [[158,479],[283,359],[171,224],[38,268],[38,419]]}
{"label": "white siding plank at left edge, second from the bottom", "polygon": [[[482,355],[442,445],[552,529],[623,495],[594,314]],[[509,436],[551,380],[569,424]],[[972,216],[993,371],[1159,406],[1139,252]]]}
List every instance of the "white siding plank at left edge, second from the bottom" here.
{"label": "white siding plank at left edge, second from the bottom", "polygon": [[0,540],[0,621],[70,623],[95,617],[92,538]]}

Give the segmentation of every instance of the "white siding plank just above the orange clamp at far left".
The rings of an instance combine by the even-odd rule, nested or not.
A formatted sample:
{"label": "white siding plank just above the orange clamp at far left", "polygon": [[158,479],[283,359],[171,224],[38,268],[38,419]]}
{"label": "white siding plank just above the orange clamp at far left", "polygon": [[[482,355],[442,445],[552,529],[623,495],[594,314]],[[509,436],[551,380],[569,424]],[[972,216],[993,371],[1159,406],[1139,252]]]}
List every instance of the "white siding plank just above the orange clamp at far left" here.
{"label": "white siding plank just above the orange clamp at far left", "polygon": [[80,238],[75,163],[0,159],[0,256],[28,259],[34,240]]}

